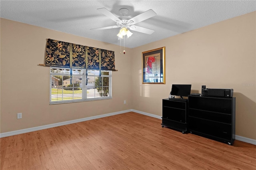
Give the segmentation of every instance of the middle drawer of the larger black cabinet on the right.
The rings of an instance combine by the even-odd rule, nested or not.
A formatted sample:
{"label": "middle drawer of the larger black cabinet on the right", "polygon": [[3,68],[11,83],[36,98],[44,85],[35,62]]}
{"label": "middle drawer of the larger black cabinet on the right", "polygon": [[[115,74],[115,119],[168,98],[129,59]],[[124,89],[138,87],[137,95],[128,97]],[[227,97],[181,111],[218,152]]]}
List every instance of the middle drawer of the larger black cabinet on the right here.
{"label": "middle drawer of the larger black cabinet on the right", "polygon": [[201,111],[197,109],[189,109],[189,116],[207,119],[210,121],[216,121],[220,123],[232,123],[232,115],[209,112],[209,111]]}

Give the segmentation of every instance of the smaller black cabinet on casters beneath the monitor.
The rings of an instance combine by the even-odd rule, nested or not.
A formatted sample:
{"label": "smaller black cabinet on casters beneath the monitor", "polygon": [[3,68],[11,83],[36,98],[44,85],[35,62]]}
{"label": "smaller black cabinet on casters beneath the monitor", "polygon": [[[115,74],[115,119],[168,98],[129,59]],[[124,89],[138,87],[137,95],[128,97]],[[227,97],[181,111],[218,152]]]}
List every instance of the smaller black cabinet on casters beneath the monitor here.
{"label": "smaller black cabinet on casters beneath the monitor", "polygon": [[187,99],[163,99],[162,127],[170,127],[182,133],[187,131]]}

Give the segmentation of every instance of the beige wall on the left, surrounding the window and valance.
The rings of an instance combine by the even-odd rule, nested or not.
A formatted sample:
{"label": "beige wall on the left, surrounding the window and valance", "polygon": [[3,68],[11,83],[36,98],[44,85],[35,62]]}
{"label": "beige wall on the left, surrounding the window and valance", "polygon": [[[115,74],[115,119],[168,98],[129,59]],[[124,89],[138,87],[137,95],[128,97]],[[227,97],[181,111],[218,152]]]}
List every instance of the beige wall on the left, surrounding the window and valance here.
{"label": "beige wall on the left, surrounding the window and valance", "polygon": [[[46,39],[115,51],[112,99],[49,105]],[[1,133],[132,109],[131,49],[1,18]],[[33,83],[31,83],[33,82]],[[126,100],[126,104],[124,104]],[[100,107],[99,107],[100,105]],[[22,113],[22,119],[16,114]]]}

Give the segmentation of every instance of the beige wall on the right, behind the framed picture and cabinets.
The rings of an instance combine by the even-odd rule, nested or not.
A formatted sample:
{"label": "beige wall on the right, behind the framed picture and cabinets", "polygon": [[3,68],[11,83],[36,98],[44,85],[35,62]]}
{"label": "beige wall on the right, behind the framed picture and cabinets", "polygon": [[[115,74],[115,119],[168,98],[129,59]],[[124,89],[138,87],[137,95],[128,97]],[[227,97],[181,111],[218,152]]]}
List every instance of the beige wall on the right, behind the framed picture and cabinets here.
{"label": "beige wall on the right, behind the framed picture and cabinets", "polygon": [[[133,49],[132,109],[162,115],[172,84],[234,89],[236,135],[256,139],[256,12]],[[171,29],[171,27],[170,27]],[[166,84],[142,84],[142,52],[166,47]]]}

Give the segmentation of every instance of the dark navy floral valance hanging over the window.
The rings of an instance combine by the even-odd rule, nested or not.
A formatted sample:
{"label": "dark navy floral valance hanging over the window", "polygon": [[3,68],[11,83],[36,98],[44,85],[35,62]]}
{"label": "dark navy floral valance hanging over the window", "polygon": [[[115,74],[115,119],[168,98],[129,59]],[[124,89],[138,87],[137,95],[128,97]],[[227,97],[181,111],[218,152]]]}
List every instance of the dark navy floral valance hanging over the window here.
{"label": "dark navy floral valance hanging over the window", "polygon": [[45,65],[115,71],[115,55],[106,49],[48,39]]}

